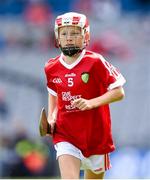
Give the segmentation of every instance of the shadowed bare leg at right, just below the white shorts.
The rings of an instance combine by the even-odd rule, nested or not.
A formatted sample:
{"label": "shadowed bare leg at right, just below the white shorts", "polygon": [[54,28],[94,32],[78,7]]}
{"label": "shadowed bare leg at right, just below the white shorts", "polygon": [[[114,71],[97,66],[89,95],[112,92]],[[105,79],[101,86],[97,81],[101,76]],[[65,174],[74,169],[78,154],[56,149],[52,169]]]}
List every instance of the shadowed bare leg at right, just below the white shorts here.
{"label": "shadowed bare leg at right, just below the white shorts", "polygon": [[100,174],[95,174],[89,169],[84,171],[84,179],[104,179],[104,175],[104,172]]}

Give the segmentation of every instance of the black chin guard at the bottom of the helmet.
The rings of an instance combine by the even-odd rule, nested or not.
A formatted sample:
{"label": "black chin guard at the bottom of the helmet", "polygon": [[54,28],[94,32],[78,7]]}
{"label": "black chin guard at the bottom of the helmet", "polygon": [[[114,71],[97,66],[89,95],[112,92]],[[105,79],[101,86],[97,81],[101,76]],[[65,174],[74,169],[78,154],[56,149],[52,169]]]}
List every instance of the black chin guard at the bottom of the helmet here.
{"label": "black chin guard at the bottom of the helmet", "polygon": [[74,56],[75,54],[81,52],[83,49],[77,47],[77,46],[70,46],[70,47],[61,47],[61,51],[65,56]]}

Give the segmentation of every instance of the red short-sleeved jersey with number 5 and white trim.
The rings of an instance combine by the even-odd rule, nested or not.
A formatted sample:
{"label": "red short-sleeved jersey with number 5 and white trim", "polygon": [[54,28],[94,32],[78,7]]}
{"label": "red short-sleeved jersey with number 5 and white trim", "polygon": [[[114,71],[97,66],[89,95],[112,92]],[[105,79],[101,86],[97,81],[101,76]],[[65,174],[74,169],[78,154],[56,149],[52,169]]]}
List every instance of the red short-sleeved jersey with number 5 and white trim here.
{"label": "red short-sleeved jersey with number 5 and white trim", "polygon": [[125,79],[120,72],[100,54],[83,50],[70,65],[63,61],[63,54],[50,59],[45,74],[49,93],[58,97],[54,144],[70,142],[85,157],[113,151],[109,105],[80,111],[71,101],[96,98],[122,86]]}

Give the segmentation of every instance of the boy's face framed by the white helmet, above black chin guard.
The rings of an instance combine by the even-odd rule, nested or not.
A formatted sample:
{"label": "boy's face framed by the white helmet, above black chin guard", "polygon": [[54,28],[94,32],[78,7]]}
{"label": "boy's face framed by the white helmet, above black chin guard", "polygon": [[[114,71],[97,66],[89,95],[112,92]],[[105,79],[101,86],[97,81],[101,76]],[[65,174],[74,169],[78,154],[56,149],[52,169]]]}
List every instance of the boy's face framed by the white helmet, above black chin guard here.
{"label": "boy's face framed by the white helmet, above black chin guard", "polygon": [[83,47],[84,38],[81,28],[77,26],[64,26],[59,29],[59,44],[61,47]]}

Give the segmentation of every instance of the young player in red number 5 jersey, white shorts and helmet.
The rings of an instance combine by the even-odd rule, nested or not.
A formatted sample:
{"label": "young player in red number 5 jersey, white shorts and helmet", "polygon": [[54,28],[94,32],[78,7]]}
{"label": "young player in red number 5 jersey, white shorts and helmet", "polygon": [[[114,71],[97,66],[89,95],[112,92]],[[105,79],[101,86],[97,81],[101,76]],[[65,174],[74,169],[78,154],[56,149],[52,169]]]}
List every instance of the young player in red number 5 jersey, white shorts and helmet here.
{"label": "young player in red number 5 jersey, white shorts and helmet", "polygon": [[63,179],[103,178],[110,168],[112,140],[109,103],[124,97],[120,72],[100,54],[87,51],[85,15],[66,13],[55,21],[61,55],[45,65],[48,123]]}

